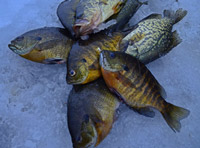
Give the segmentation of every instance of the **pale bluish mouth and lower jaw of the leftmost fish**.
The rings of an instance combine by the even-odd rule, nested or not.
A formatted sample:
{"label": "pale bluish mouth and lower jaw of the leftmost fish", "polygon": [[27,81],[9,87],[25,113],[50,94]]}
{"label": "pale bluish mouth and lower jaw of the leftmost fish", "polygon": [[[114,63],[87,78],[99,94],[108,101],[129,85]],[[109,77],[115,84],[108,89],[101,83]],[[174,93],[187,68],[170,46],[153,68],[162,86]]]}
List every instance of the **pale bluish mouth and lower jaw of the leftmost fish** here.
{"label": "pale bluish mouth and lower jaw of the leftmost fish", "polygon": [[8,44],[8,47],[16,54],[25,55],[29,53],[35,47],[35,45],[30,46],[29,48],[23,49],[11,43],[11,44]]}

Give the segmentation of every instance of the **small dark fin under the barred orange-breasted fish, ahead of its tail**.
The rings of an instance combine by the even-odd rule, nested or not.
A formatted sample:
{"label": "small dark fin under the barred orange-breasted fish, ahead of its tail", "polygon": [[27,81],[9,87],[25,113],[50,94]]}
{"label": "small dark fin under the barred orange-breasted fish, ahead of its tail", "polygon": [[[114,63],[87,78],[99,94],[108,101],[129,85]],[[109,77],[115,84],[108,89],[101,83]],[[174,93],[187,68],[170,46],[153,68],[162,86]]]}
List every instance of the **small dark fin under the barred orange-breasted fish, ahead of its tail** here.
{"label": "small dark fin under the barred orange-breasted fish, ahead of its tail", "polygon": [[155,116],[155,112],[149,107],[141,107],[141,108],[133,108],[133,110],[137,111],[139,114],[144,115],[146,117],[153,118]]}

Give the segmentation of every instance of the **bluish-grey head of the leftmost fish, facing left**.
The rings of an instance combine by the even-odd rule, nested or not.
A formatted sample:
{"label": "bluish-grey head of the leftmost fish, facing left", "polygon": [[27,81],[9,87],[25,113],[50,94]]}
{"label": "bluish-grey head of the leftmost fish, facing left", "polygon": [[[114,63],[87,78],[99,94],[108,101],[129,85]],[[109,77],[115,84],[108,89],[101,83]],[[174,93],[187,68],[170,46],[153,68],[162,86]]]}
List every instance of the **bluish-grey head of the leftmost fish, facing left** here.
{"label": "bluish-grey head of the leftmost fish, facing left", "polygon": [[8,47],[16,54],[25,55],[29,53],[41,40],[42,38],[39,36],[21,35],[12,40]]}

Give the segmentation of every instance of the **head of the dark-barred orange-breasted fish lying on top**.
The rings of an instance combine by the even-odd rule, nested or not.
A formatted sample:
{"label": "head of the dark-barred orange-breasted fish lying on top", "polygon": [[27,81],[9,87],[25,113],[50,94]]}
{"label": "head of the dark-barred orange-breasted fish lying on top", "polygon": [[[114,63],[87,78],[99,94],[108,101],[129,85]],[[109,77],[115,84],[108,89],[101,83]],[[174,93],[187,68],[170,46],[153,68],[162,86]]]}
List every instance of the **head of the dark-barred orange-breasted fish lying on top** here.
{"label": "head of the dark-barred orange-breasted fish lying on top", "polygon": [[121,71],[127,62],[123,55],[122,52],[103,50],[100,53],[99,63],[107,71]]}

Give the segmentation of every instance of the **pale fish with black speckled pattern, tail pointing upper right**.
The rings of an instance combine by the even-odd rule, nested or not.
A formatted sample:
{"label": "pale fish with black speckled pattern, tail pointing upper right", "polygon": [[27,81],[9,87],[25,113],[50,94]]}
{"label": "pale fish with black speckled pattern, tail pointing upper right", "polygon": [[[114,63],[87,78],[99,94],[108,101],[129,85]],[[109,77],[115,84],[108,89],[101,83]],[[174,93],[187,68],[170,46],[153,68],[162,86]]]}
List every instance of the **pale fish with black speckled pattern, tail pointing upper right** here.
{"label": "pale fish with black speckled pattern, tail pointing upper right", "polygon": [[176,12],[164,10],[163,14],[163,18],[161,14],[151,14],[130,27],[132,32],[120,43],[121,51],[147,64],[179,45],[182,39],[176,30],[172,32],[172,28],[186,16],[187,11],[180,8]]}

